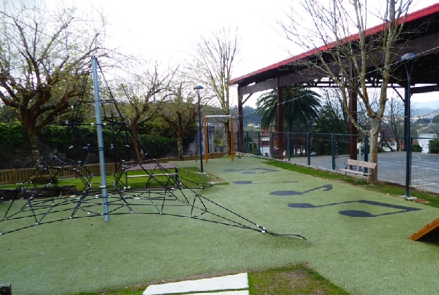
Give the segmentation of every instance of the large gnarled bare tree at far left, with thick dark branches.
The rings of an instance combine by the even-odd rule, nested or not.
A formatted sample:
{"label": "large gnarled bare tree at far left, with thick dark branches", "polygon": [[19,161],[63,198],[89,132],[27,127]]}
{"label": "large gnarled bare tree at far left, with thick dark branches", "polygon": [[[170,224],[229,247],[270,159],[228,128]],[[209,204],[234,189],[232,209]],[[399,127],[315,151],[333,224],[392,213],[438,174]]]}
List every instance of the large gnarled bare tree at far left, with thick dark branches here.
{"label": "large gnarled bare tree at far left, with thick dark branches", "polygon": [[100,22],[85,21],[73,8],[50,10],[36,1],[0,11],[0,99],[16,108],[30,138],[35,166],[41,164],[38,135],[68,99],[80,94],[99,44]]}

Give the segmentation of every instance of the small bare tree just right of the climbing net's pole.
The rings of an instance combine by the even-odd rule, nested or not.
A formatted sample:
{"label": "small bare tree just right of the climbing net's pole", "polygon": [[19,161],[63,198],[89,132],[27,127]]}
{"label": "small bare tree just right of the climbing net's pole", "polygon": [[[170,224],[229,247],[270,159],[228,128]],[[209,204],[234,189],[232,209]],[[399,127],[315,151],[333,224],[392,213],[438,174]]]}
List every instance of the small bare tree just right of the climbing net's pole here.
{"label": "small bare tree just right of the climbing net's pole", "polygon": [[[133,135],[137,137],[137,126],[144,124],[157,115],[162,102],[171,94],[170,84],[173,81],[175,70],[159,72],[159,65],[156,63],[151,68],[140,74],[133,74],[132,77],[125,77],[119,81],[119,90],[123,101],[128,102],[130,108],[124,112],[126,121],[130,126]],[[133,138],[133,144],[137,158],[142,159],[142,153],[138,140]]]}

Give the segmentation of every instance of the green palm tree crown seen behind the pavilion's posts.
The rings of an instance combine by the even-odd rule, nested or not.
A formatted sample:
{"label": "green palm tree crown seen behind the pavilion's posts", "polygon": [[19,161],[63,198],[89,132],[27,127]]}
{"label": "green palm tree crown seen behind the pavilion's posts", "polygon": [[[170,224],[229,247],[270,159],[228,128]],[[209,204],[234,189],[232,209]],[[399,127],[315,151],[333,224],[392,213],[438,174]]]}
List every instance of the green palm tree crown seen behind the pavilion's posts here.
{"label": "green palm tree crown seen behind the pavilion's posts", "polygon": [[[282,113],[287,131],[293,126],[306,125],[309,120],[318,118],[320,95],[305,88],[286,86],[282,91]],[[257,114],[262,117],[261,126],[277,125],[277,94],[276,90],[261,95],[257,99]]]}

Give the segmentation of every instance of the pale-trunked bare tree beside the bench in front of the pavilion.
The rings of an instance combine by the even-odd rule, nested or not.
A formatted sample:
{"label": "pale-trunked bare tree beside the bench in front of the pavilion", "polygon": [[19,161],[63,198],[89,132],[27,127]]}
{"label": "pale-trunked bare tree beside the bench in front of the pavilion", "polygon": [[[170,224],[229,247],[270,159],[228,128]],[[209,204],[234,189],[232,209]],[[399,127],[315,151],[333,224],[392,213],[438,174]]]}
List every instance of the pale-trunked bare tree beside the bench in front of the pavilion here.
{"label": "pale-trunked bare tree beside the bench in front of the pavilion", "polygon": [[[400,41],[402,26],[411,0],[384,1],[382,13],[365,0],[302,0],[304,13],[291,15],[292,26],[283,28],[295,44],[313,50],[314,60],[307,64],[318,73],[329,77],[341,91],[344,109],[349,120],[371,137],[371,162],[378,162],[378,134],[387,102],[387,88],[396,57],[393,48]],[[293,10],[294,11],[294,10]],[[306,21],[303,17],[309,16]],[[367,34],[372,17],[382,23],[380,30]],[[312,23],[309,23],[309,22]],[[305,25],[306,23],[306,25]],[[367,68],[375,66],[376,79],[367,75]],[[378,85],[378,104],[373,107],[368,84]],[[349,108],[349,93],[358,95],[370,120],[365,130],[356,120],[355,108]],[[375,173],[376,177],[377,173]]]}

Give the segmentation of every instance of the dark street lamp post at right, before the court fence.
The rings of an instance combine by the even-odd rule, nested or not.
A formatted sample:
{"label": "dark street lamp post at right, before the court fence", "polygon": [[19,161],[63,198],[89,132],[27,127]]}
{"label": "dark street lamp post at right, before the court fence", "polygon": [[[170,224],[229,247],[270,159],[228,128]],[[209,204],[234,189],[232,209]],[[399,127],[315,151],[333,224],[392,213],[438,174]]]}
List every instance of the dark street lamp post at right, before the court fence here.
{"label": "dark street lamp post at right, before the court fence", "polygon": [[[407,200],[413,200],[416,199],[416,197],[411,197],[410,196],[410,175],[411,175],[411,163],[410,163],[410,158],[411,158],[411,137],[410,137],[410,90],[411,90],[411,72],[413,70],[413,64],[414,61],[418,58],[418,55],[414,54],[414,53],[406,53],[405,55],[402,55],[401,57],[401,61],[405,61],[404,62],[404,66],[405,66],[405,72],[407,74],[407,90],[406,90],[406,94],[407,97],[405,98],[406,101],[406,106],[407,106],[407,130],[406,130],[406,135],[405,135],[405,142],[406,142],[406,169],[405,169],[405,196],[404,198],[406,198]],[[409,68],[410,67],[410,68]]]}

